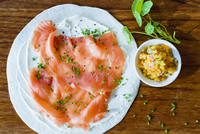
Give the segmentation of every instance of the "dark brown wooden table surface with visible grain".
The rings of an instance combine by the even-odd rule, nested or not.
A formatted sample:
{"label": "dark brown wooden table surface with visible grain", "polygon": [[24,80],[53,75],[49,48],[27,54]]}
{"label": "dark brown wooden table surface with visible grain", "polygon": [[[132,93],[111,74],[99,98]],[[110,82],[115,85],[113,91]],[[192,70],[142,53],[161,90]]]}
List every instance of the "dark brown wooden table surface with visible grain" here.
{"label": "dark brown wooden table surface with visible grain", "polygon": [[[141,82],[139,93],[126,117],[107,134],[162,134],[165,129],[173,134],[199,134],[200,121],[200,1],[152,0],[151,17],[164,24],[170,33],[176,31],[181,41],[175,45],[182,58],[178,78],[170,85],[153,88]],[[110,12],[130,30],[139,28],[131,12],[132,0],[0,0],[0,133],[34,134],[17,115],[9,98],[6,61],[12,43],[37,14],[59,4],[73,3],[99,7]],[[138,46],[147,36],[133,35]],[[148,94],[150,93],[150,94]],[[141,98],[140,95],[144,97]],[[148,100],[148,104],[143,103]],[[172,115],[175,103],[176,115]],[[155,112],[152,109],[156,108]],[[142,111],[141,111],[142,110]],[[137,115],[133,118],[133,115]],[[151,124],[147,114],[152,116]],[[165,124],[161,127],[159,121]],[[188,123],[186,126],[185,123]]]}

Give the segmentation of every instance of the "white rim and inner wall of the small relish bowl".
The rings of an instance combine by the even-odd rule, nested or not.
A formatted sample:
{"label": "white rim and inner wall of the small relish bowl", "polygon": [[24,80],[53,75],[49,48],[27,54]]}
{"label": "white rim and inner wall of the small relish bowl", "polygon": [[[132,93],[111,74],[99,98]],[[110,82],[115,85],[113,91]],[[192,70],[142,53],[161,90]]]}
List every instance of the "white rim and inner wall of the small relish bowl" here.
{"label": "white rim and inner wall of the small relish bowl", "polygon": [[[151,44],[151,42],[157,42],[157,43]],[[150,79],[146,78],[146,77],[143,76],[143,75],[141,76],[141,74],[139,74],[139,72],[138,72],[138,70],[137,70],[138,66],[137,66],[137,64],[136,64],[136,61],[137,61],[139,52],[142,50],[143,47],[146,48],[147,46],[156,45],[156,44],[165,44],[165,45],[169,46],[171,49],[173,48],[173,51],[175,51],[175,52],[176,52],[176,55],[177,55],[175,58],[176,58],[177,60],[179,59],[179,60],[178,60],[177,70],[176,70],[176,72],[174,72],[174,74],[171,75],[171,76],[173,76],[173,78],[171,78],[171,79],[168,80],[167,82],[166,82],[166,81],[155,82],[154,80],[150,80]],[[146,45],[146,46],[145,46],[145,45]],[[172,53],[173,53],[173,51],[172,51]],[[174,55],[174,53],[173,53],[173,55]],[[178,57],[178,58],[177,58],[177,57]],[[181,71],[181,66],[182,66],[182,61],[181,61],[181,56],[180,56],[179,51],[177,50],[177,48],[176,48],[172,43],[170,43],[170,42],[168,42],[168,41],[166,41],[166,40],[163,40],[163,39],[150,39],[150,40],[148,40],[148,41],[145,41],[144,43],[142,43],[142,44],[139,46],[139,48],[137,49],[137,51],[136,51],[136,53],[135,53],[135,55],[134,55],[134,70],[135,70],[137,76],[140,78],[140,80],[141,80],[142,82],[144,82],[145,84],[147,84],[147,85],[149,85],[149,86],[152,86],[152,87],[164,87],[164,86],[167,86],[167,85],[171,84],[171,83],[178,77],[178,75],[179,75],[179,73],[180,73],[180,71]],[[171,77],[171,76],[169,76],[169,77]],[[142,78],[142,77],[143,77],[143,78]],[[145,79],[146,79],[146,80],[145,80]],[[169,78],[167,78],[167,79],[169,79]],[[148,81],[151,81],[152,83],[147,82],[147,80],[148,80]],[[159,84],[154,84],[154,83],[159,83]]]}

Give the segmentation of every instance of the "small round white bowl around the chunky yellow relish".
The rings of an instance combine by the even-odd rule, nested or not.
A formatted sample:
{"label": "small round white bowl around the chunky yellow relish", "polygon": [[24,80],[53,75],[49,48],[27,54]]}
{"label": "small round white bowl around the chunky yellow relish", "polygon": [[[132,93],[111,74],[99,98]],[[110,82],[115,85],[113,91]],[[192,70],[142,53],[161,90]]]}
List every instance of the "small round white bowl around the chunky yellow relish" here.
{"label": "small round white bowl around the chunky yellow relish", "polygon": [[[161,82],[155,82],[154,80],[148,79],[147,77],[143,76],[141,69],[138,68],[139,54],[142,52],[142,50],[144,50],[148,46],[157,45],[157,44],[165,44],[165,45],[169,46],[172,49],[174,58],[176,58],[178,60],[178,66],[176,68],[176,72],[174,72],[172,75],[170,75],[165,81],[161,81]],[[140,80],[142,82],[144,82],[145,84],[152,86],[152,87],[164,87],[164,86],[172,83],[178,77],[178,75],[180,73],[181,64],[182,64],[181,56],[180,56],[178,50],[176,49],[176,47],[174,47],[174,45],[172,45],[170,42],[168,42],[166,40],[162,40],[162,39],[151,39],[151,40],[144,42],[137,49],[137,51],[135,53],[135,57],[134,57],[134,68],[135,68],[136,74],[138,75],[138,77],[140,78]]]}

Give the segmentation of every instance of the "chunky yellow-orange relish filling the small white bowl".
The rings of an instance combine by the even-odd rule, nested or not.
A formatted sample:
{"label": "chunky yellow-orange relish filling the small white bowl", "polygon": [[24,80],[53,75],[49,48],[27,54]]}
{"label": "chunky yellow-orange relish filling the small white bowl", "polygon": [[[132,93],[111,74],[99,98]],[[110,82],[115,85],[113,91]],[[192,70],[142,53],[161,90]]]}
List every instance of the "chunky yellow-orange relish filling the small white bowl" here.
{"label": "chunky yellow-orange relish filling the small white bowl", "polygon": [[145,77],[156,82],[165,81],[177,66],[178,61],[173,57],[171,48],[164,44],[148,46],[139,54],[138,67]]}

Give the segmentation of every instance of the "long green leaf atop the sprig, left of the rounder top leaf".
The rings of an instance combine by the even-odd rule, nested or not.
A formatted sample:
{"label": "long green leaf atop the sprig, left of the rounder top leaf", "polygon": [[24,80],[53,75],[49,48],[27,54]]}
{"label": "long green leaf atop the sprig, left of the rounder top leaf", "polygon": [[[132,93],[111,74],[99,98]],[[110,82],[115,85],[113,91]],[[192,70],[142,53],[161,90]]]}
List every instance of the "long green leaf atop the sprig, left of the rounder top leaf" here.
{"label": "long green leaf atop the sprig, left of the rounder top leaf", "polygon": [[133,16],[135,17],[135,19],[140,27],[142,26],[142,18],[140,16],[140,12],[142,10],[143,1],[144,0],[135,0],[131,7]]}

